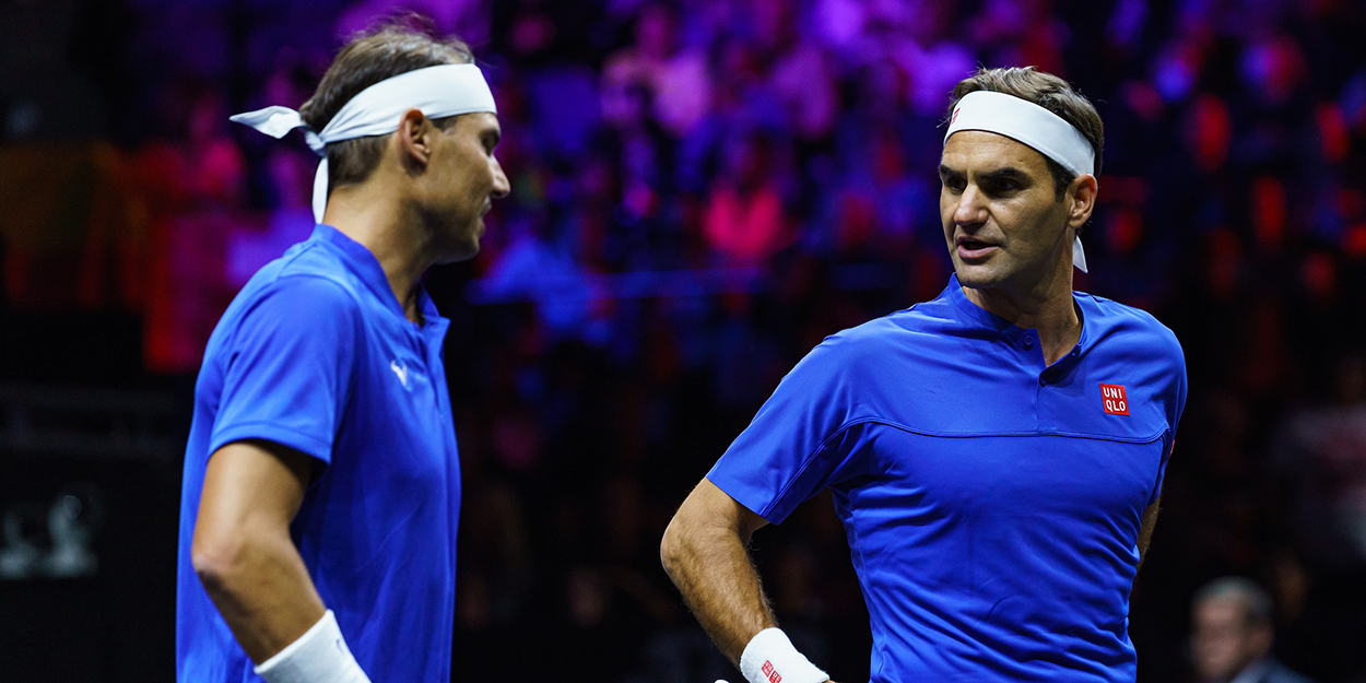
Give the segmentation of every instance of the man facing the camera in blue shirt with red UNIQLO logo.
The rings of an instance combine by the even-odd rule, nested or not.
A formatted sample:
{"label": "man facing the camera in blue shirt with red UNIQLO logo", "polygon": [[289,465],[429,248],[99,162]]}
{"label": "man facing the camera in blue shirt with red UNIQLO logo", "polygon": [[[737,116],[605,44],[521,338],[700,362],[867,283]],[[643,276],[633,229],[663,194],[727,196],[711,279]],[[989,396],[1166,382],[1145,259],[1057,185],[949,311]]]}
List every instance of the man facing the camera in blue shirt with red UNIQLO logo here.
{"label": "man facing the camera in blue shirt with red UNIQLO logo", "polygon": [[679,508],[664,566],[751,683],[826,673],[777,628],[746,546],[832,489],[873,682],[1132,682],[1128,594],[1186,400],[1176,337],[1072,291],[1102,126],[1060,78],[953,90],[938,298],[828,337]]}

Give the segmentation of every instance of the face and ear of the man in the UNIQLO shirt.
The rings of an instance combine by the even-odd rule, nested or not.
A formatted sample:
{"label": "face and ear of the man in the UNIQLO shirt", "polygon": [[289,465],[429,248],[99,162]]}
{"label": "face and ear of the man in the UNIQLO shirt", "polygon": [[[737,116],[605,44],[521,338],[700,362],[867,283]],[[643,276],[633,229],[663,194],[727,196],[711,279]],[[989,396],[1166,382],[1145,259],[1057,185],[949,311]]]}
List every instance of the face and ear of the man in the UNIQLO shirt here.
{"label": "face and ear of the man in the UNIQLO shirt", "polygon": [[[1059,199],[1033,148],[994,133],[955,133],[940,160],[940,217],[959,283],[1027,292],[1053,275],[1067,279],[1074,229],[1094,202],[1089,179],[1079,176]],[[1091,189],[1078,191],[1087,180]]]}

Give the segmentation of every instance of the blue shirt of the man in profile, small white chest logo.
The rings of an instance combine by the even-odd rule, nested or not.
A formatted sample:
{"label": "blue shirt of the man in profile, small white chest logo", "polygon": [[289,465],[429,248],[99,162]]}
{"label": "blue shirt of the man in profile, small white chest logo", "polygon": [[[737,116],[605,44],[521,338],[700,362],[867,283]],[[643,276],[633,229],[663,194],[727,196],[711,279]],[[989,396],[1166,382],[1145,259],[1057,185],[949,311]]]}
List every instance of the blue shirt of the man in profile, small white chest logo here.
{"label": "blue shirt of the man in profile, small white chest logo", "polygon": [[180,493],[176,679],[257,682],[190,564],[209,456],[264,438],[318,467],[291,533],[372,680],[447,683],[460,470],[423,292],[403,316],[374,255],[328,225],[261,269],[209,339]]}

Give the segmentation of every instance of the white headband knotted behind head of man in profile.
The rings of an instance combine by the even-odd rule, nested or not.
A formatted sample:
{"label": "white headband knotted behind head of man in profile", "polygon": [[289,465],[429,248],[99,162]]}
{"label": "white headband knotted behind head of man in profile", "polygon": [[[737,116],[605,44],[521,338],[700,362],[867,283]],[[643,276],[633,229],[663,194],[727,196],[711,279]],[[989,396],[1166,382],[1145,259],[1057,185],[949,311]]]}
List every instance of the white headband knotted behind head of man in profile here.
{"label": "white headband knotted behind head of man in profile", "polygon": [[418,109],[428,119],[473,112],[499,113],[479,67],[441,64],[399,74],[361,90],[321,133],[314,133],[303,123],[299,112],[288,107],[266,107],[229,116],[229,120],[276,138],[283,138],[294,128],[305,128],[309,148],[322,157],[318,172],[313,176],[313,219],[322,223],[322,210],[328,205],[328,143],[388,135],[399,130],[403,112],[408,109]]}

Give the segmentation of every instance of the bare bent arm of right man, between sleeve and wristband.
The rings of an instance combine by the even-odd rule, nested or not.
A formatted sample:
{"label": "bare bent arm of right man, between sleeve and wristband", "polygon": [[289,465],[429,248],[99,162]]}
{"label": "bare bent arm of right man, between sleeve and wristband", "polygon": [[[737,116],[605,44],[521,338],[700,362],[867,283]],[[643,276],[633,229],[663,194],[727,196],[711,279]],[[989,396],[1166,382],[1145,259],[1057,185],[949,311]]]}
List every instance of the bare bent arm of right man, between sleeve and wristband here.
{"label": "bare bent arm of right man, between sleeve and wristband", "polygon": [[673,515],[660,545],[664,571],[736,667],[754,634],[775,626],[746,550],[750,537],[766,523],[703,478]]}

